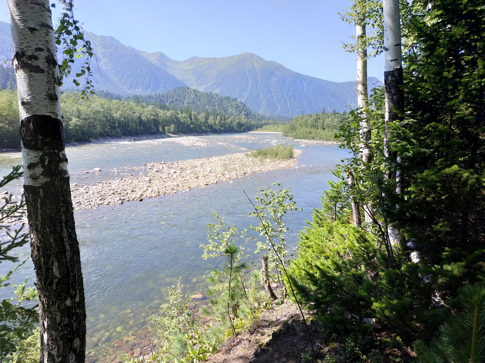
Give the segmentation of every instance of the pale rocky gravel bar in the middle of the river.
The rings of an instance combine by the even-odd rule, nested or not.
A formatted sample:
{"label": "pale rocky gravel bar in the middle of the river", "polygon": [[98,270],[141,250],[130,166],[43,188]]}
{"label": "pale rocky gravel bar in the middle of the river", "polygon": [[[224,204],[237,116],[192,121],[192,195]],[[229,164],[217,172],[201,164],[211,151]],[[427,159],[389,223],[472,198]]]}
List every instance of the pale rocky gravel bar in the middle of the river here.
{"label": "pale rocky gravel bar in the middle of the river", "polygon": [[81,210],[205,188],[253,173],[298,167],[296,163],[301,153],[301,150],[294,150],[289,160],[259,160],[248,153],[235,153],[139,167],[124,166],[118,171],[120,175],[129,174],[125,178],[98,181],[96,185],[71,184],[72,202],[74,209]]}

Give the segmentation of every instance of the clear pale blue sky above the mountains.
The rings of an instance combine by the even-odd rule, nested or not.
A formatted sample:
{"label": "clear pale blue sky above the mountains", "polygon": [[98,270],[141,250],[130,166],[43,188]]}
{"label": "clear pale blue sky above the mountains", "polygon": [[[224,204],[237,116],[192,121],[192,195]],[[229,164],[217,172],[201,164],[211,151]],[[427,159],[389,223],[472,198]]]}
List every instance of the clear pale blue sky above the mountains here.
{"label": "clear pale blue sky above the mountains", "polygon": [[[52,1],[54,2],[54,1]],[[85,30],[182,61],[243,52],[332,81],[356,79],[356,55],[342,42],[355,33],[337,12],[348,0],[74,0]],[[57,9],[58,13],[59,9]],[[9,22],[7,1],[0,20]],[[382,80],[383,57],[369,61]]]}

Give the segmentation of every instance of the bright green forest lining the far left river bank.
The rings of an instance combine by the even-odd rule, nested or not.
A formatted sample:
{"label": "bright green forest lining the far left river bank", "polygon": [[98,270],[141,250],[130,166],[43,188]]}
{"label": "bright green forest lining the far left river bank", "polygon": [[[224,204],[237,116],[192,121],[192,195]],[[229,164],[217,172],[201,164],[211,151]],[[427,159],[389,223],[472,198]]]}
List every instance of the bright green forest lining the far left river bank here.
{"label": "bright green forest lining the far left river bank", "polygon": [[[61,105],[66,142],[102,136],[245,132],[275,122],[248,120],[216,109],[194,111],[189,106],[167,109],[164,104],[150,105],[98,96],[82,99],[78,93],[63,93]],[[0,91],[0,135],[0,148],[20,146],[18,101],[13,90]]]}

